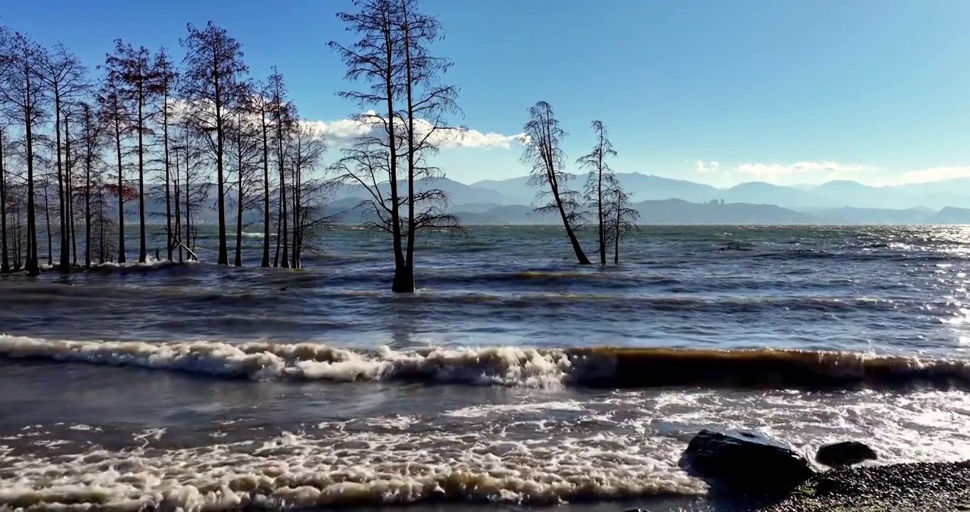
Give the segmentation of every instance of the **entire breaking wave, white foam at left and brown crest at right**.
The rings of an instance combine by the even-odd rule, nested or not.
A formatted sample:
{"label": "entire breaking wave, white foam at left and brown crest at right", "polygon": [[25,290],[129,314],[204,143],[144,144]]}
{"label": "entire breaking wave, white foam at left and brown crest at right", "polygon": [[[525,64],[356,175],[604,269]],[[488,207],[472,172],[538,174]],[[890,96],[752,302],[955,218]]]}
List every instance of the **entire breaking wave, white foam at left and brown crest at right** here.
{"label": "entire breaking wave, white foam at left and brown crest at right", "polygon": [[491,346],[369,351],[318,343],[148,343],[0,336],[0,357],[251,380],[404,380],[538,388],[970,390],[970,361],[809,350]]}

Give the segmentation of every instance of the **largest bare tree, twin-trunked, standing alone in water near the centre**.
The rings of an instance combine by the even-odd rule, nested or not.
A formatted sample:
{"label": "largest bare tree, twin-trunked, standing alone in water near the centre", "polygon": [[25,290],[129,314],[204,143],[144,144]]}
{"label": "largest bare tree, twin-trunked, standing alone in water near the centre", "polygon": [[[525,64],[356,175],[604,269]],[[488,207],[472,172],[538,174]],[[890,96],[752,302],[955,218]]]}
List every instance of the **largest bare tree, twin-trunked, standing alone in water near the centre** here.
{"label": "largest bare tree, twin-trunked, standing alone in water near the centre", "polygon": [[339,95],[381,112],[358,116],[371,130],[344,150],[337,166],[338,181],[368,191],[371,198],[362,206],[376,218],[372,227],[386,231],[393,240],[391,289],[413,292],[418,230],[458,227],[457,218],[445,212],[447,196],[442,190],[418,189],[419,182],[427,184],[426,178],[440,175],[427,158],[446,134],[457,130],[444,122],[444,116],[458,112],[458,89],[438,82],[451,62],[431,55],[429,46],[440,39],[440,24],[420,14],[416,1],[357,0],[354,5],[360,8],[358,13],[338,16],[346,30],[360,39],[348,47],[337,42],[330,47],[347,66],[346,78],[370,87]]}

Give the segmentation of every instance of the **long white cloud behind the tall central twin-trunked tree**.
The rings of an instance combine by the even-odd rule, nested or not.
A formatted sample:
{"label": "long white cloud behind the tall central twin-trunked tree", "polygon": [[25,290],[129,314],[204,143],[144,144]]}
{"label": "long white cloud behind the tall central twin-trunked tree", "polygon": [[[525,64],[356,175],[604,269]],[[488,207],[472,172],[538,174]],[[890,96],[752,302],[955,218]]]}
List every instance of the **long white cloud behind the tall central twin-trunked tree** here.
{"label": "long white cloud behind the tall central twin-trunked tree", "polygon": [[[367,115],[375,115],[375,112],[365,112]],[[381,127],[374,121],[366,118],[348,118],[336,121],[307,121],[315,128],[324,133],[332,144],[349,144],[355,138],[369,135],[374,130]],[[417,119],[416,131],[428,133],[432,124],[424,119]],[[528,144],[529,137],[526,134],[503,135],[500,133],[482,133],[478,130],[441,130],[432,135],[432,140],[440,147],[471,147],[479,149],[490,149],[493,147],[509,148],[512,144]]]}

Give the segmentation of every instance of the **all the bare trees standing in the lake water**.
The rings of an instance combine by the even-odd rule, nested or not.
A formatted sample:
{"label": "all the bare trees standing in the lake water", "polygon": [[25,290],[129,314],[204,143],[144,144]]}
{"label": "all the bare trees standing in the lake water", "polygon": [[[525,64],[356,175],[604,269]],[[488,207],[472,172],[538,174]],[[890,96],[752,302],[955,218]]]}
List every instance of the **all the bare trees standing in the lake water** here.
{"label": "all the bare trees standing in the lake water", "polygon": [[[180,59],[115,40],[93,67],[0,25],[0,272],[127,264],[136,227],[139,264],[162,252],[197,260],[207,209],[218,265],[242,266],[250,233],[262,239],[260,266],[299,269],[335,220],[327,199],[349,186],[365,191],[366,227],[390,239],[391,289],[414,291],[417,235],[462,231],[446,193],[428,186],[443,176],[440,147],[466,133],[451,122],[459,88],[434,51],[442,27],[418,0],[353,5],[338,14],[350,42],[329,47],[357,86],[337,94],[366,112],[356,115],[365,129],[329,164],[324,132],[300,118],[282,74],[252,77],[242,42],[211,21],[186,25]],[[604,264],[611,243],[619,261],[637,217],[609,168],[617,153],[605,127],[593,130],[594,149],[578,161],[585,194],[569,187],[566,132],[548,103],[530,109],[521,159],[540,190],[535,211],[561,218],[582,265],[591,263],[577,235],[585,221],[595,218]],[[249,223],[261,233],[246,232]],[[163,247],[149,246],[159,238]]]}

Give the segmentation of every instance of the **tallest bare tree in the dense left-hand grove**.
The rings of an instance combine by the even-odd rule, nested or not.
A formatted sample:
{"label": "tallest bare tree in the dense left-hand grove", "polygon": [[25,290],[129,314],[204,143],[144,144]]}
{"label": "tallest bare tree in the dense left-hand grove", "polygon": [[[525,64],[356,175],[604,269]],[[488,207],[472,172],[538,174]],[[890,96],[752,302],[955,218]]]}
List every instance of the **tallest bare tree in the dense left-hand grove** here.
{"label": "tallest bare tree in the dense left-hand grove", "polygon": [[225,139],[229,110],[242,93],[242,75],[247,71],[242,62],[242,45],[225,29],[211,21],[204,29],[188,25],[188,36],[181,40],[185,48],[185,75],[182,96],[189,103],[188,115],[207,135],[215,158],[217,208],[219,217],[219,265],[229,265],[226,246],[225,208]]}

